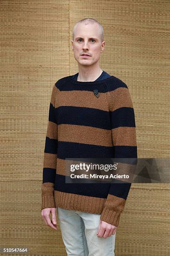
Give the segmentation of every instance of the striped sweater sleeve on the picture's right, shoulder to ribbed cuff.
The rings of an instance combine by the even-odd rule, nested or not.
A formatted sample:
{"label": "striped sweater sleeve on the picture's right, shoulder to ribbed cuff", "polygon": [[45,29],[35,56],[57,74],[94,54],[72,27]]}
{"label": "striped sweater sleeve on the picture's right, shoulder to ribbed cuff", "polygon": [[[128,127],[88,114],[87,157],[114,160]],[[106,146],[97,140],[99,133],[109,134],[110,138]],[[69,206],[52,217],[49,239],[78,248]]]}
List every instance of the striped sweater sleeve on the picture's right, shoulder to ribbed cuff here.
{"label": "striped sweater sleeve on the picture's right, shoulder to ribbed cuff", "polygon": [[[121,80],[120,80],[121,81]],[[113,90],[107,92],[109,113],[111,120],[112,143],[114,158],[133,158],[137,161],[137,142],[135,129],[135,113],[128,87],[121,82]],[[119,174],[127,174],[130,165],[122,164]],[[118,226],[120,214],[124,210],[131,183],[111,183],[105,201],[101,220]]]}

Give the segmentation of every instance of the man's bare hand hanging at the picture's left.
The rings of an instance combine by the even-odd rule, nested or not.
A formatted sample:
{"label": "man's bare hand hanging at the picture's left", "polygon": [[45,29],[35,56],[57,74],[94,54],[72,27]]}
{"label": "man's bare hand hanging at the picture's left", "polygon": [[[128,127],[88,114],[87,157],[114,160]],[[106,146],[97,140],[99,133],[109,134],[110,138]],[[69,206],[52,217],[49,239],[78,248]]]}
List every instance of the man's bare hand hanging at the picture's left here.
{"label": "man's bare hand hanging at the picture's left", "polygon": [[[50,220],[50,213],[52,214],[52,220]],[[45,224],[52,229],[57,229],[56,220],[56,208],[44,208],[42,209],[41,216],[45,221]]]}

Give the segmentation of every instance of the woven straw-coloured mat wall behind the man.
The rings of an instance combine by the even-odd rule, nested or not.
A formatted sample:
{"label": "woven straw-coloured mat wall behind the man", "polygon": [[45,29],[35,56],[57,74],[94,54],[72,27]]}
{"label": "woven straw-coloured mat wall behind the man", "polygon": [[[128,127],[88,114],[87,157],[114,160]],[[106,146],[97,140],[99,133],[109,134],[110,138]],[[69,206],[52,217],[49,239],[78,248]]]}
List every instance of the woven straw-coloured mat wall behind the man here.
{"label": "woven straw-coloured mat wall behind the man", "polygon": [[[170,157],[169,0],[0,1],[0,247],[67,255],[41,217],[43,151],[52,86],[75,74],[72,28],[104,28],[100,67],[122,79],[135,110],[138,157]],[[116,256],[170,255],[170,185],[133,184]]]}

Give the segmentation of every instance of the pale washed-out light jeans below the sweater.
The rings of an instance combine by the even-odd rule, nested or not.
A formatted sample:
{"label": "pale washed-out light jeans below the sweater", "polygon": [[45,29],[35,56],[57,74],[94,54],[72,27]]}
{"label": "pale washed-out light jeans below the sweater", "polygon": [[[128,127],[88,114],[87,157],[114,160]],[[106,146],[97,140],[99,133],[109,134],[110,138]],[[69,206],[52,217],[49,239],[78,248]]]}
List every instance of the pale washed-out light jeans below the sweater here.
{"label": "pale washed-out light jeans below the sweater", "polygon": [[100,214],[57,208],[67,256],[115,256],[115,235],[97,237]]}

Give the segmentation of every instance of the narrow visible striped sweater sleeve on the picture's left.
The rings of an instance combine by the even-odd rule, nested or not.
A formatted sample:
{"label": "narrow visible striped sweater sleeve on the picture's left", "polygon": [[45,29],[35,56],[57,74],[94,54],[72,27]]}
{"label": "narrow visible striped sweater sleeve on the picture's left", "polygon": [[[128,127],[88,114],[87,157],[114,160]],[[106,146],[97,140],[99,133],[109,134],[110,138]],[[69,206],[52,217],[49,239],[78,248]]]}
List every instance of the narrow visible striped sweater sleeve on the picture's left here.
{"label": "narrow visible striped sweater sleeve on the picture's left", "polygon": [[54,183],[57,166],[57,120],[55,117],[55,97],[57,87],[54,84],[50,99],[47,133],[45,138],[45,149],[43,158],[43,177],[42,177],[42,207],[56,207],[54,199]]}

